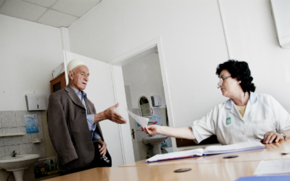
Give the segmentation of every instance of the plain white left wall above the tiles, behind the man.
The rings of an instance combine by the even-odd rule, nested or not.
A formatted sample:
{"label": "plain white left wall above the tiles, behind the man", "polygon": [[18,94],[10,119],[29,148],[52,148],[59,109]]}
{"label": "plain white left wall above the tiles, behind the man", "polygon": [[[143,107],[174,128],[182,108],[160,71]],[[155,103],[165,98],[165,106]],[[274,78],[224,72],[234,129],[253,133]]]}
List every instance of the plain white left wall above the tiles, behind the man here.
{"label": "plain white left wall above the tiles, behind the man", "polygon": [[26,93],[50,95],[63,62],[60,29],[0,15],[0,110],[26,110]]}

